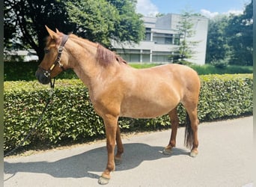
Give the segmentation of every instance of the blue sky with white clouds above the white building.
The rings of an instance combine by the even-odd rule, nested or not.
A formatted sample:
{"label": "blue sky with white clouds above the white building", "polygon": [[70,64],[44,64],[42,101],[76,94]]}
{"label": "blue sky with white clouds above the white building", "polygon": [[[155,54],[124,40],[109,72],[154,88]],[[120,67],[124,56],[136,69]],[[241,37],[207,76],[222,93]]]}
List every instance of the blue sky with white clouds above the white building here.
{"label": "blue sky with white clouds above the white building", "polygon": [[181,13],[192,10],[212,18],[224,13],[243,13],[245,4],[251,0],[137,0],[136,10],[144,16],[156,13]]}

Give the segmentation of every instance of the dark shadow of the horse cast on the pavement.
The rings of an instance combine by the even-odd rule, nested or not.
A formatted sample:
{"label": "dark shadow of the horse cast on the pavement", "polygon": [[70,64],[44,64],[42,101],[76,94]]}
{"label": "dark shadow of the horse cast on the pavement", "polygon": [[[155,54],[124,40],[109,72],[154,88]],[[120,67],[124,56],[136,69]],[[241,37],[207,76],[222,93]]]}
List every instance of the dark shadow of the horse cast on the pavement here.
{"label": "dark shadow of the horse cast on the pavement", "polygon": [[[168,158],[171,156],[187,155],[188,150],[174,148],[171,156],[161,153],[162,147],[151,147],[147,144],[124,144],[124,156],[121,165],[116,166],[116,171],[126,171],[138,167],[141,162]],[[4,173],[18,172],[49,174],[52,177],[90,177],[98,178],[91,172],[103,171],[106,167],[106,147],[88,150],[85,153],[60,159],[56,162],[4,162]],[[10,179],[9,177],[8,179]],[[6,180],[8,180],[6,179]]]}

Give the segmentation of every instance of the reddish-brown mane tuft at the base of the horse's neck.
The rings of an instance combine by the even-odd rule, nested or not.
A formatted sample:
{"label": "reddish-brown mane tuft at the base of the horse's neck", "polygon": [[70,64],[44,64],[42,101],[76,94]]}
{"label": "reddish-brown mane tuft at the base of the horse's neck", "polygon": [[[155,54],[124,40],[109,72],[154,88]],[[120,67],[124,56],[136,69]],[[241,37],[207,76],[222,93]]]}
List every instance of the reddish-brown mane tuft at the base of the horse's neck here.
{"label": "reddish-brown mane tuft at the base of the horse's neck", "polygon": [[106,49],[105,47],[98,44],[97,46],[97,61],[103,65],[109,65],[118,61],[119,63],[127,64],[121,56],[115,54],[115,52]]}

